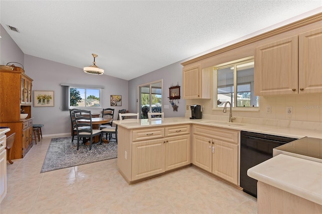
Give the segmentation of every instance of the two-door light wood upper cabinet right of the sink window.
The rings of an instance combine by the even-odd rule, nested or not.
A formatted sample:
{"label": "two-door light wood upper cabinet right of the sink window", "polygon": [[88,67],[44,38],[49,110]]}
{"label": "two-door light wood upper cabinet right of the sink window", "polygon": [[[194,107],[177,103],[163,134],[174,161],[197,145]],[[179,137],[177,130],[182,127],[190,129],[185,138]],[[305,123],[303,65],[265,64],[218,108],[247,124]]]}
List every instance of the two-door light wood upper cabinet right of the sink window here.
{"label": "two-door light wood upper cabinet right of the sink window", "polygon": [[257,47],[256,95],[322,92],[322,28]]}

